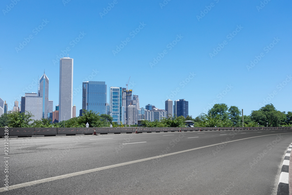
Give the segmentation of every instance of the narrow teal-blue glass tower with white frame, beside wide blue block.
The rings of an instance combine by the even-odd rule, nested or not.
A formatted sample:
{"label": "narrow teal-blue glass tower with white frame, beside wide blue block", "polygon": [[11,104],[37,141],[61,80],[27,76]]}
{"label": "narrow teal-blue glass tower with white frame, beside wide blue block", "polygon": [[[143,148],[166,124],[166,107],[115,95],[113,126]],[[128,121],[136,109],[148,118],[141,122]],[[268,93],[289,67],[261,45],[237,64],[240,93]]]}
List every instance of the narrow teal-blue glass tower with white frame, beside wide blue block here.
{"label": "narrow teal-blue glass tower with white frame, beside wide blue block", "polygon": [[113,122],[120,124],[122,121],[122,87],[110,87],[110,115]]}

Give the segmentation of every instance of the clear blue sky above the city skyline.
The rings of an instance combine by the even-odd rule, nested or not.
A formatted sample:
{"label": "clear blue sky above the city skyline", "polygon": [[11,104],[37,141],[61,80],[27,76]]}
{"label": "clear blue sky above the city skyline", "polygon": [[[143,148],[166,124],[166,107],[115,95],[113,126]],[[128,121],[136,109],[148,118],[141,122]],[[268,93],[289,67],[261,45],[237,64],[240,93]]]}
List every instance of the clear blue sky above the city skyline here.
{"label": "clear blue sky above the city skyline", "polygon": [[128,87],[140,107],[164,109],[170,97],[189,101],[193,117],[214,102],[246,115],[267,103],[292,111],[291,6],[288,0],[3,0],[0,97],[12,109],[16,98],[37,92],[45,70],[55,107],[59,59],[69,54],[77,110],[83,81],[105,81],[109,102],[109,87],[126,87],[131,76]]}

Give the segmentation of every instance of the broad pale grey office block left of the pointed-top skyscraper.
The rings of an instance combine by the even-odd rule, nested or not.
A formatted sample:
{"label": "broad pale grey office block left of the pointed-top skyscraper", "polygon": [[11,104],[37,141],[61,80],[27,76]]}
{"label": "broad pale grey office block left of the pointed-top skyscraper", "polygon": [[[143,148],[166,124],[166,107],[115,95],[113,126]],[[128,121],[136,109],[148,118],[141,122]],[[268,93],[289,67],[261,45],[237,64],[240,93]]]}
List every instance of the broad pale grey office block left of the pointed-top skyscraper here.
{"label": "broad pale grey office block left of the pointed-top skyscraper", "polygon": [[[25,111],[30,112],[33,115],[31,118],[33,120],[40,120],[43,118],[42,97],[37,96],[36,93],[25,93]],[[30,123],[32,122],[33,121]]]}

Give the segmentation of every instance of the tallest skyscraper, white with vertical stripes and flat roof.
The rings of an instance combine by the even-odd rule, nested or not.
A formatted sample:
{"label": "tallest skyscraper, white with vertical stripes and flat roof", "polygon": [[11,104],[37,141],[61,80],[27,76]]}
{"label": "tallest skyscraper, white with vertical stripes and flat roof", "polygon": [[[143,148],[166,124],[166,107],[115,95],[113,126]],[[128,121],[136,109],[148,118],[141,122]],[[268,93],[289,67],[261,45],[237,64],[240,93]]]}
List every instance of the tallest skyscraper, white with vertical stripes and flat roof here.
{"label": "tallest skyscraper, white with vertical stripes and flat roof", "polygon": [[72,118],[73,58],[60,58],[59,122]]}

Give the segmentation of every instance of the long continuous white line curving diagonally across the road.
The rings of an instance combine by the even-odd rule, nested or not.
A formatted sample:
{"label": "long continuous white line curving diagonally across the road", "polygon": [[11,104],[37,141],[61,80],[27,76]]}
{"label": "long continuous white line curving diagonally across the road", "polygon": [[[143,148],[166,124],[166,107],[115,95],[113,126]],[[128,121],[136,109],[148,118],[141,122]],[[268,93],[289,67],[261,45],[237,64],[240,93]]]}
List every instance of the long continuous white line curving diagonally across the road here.
{"label": "long continuous white line curving diagonally across the road", "polygon": [[[278,133],[278,134],[288,134],[288,133]],[[270,134],[270,135],[277,135],[277,134]],[[256,136],[256,137],[264,137],[264,136],[269,136],[269,135],[259,135],[259,136]],[[163,155],[160,155],[160,156],[153,156],[153,157],[144,158],[144,159],[140,159],[140,160],[129,161],[129,162],[126,162],[126,163],[119,163],[119,164],[115,164],[115,165],[109,165],[109,166],[105,166],[105,167],[89,169],[89,170],[69,173],[69,174],[65,174],[65,175],[59,175],[59,176],[55,176],[55,177],[49,177],[49,178],[45,178],[45,179],[41,179],[41,180],[25,182],[25,183],[22,183],[22,184],[15,184],[15,185],[9,186],[9,190],[18,189],[18,188],[22,188],[22,187],[26,187],[26,186],[35,185],[35,184],[41,184],[41,183],[45,183],[45,182],[51,182],[51,181],[55,181],[55,180],[60,180],[60,179],[68,178],[68,177],[73,177],[73,176],[76,176],[76,175],[84,175],[86,173],[96,172],[96,171],[110,169],[110,168],[114,168],[114,167],[130,165],[130,164],[133,164],[133,163],[140,163],[140,162],[149,161],[149,160],[156,159],[156,158],[161,158],[161,157],[165,157],[165,156],[171,156],[171,155],[175,155],[175,154],[180,154],[180,153],[184,153],[184,152],[194,151],[194,150],[198,150],[198,149],[202,149],[202,148],[208,148],[208,147],[211,147],[211,146],[218,146],[220,144],[227,144],[227,143],[234,142],[234,141],[241,141],[241,140],[251,139],[251,138],[256,138],[256,137],[247,137],[247,138],[243,138],[243,139],[226,141],[226,142],[221,142],[221,143],[218,143],[218,144],[212,144],[212,145],[208,145],[208,146],[201,146],[201,147],[198,147],[198,148],[193,148],[193,149],[188,149],[188,150],[183,150],[183,151],[163,154]],[[286,155],[287,154],[289,154],[289,153],[286,153]],[[290,154],[289,154],[289,156],[290,156]],[[281,175],[280,175],[280,179],[281,179]],[[3,191],[6,191],[5,187],[0,188],[0,192],[3,192]]]}

